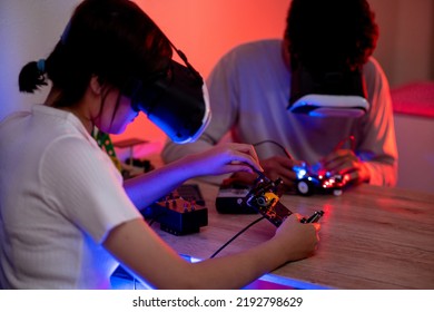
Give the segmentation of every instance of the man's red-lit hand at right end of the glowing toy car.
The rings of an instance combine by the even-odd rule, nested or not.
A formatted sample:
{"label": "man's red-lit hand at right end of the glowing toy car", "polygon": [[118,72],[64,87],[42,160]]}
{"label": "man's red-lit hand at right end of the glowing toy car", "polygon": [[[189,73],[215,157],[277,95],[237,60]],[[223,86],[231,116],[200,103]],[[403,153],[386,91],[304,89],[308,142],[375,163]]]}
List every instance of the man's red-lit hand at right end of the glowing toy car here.
{"label": "man's red-lit hand at right end of the glowing toy car", "polygon": [[337,149],[320,160],[324,169],[339,174],[347,183],[361,184],[371,178],[366,165],[351,149]]}

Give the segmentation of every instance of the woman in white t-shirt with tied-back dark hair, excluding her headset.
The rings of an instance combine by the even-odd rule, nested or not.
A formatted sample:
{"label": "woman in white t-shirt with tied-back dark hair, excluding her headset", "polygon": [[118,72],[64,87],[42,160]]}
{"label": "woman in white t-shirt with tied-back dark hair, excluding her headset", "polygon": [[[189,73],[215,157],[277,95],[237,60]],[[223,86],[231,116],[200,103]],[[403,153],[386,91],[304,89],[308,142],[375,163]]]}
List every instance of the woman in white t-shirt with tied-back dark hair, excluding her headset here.
{"label": "woman in white t-shirt with tied-back dark hair, excluding her headset", "polygon": [[121,181],[91,131],[121,133],[138,114],[128,81],[170,60],[169,41],[134,2],[85,0],[50,56],[23,67],[22,91],[46,78],[51,91],[0,124],[0,287],[107,289],[122,263],[159,289],[238,289],[314,252],[318,225],[296,214],[255,248],[195,264],[145,223],[138,208],[186,179],[262,170],[251,146],[227,145]]}

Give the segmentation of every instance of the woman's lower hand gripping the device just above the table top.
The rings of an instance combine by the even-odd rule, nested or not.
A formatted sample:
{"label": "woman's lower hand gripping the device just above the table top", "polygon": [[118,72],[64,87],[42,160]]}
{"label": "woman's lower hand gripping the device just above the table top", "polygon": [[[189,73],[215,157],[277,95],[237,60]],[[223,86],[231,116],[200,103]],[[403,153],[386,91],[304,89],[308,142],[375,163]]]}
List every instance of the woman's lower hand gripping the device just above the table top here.
{"label": "woman's lower hand gripping the device just above the table top", "polygon": [[277,228],[274,240],[278,240],[286,261],[296,261],[314,254],[319,242],[318,223],[300,223],[300,215],[289,215]]}

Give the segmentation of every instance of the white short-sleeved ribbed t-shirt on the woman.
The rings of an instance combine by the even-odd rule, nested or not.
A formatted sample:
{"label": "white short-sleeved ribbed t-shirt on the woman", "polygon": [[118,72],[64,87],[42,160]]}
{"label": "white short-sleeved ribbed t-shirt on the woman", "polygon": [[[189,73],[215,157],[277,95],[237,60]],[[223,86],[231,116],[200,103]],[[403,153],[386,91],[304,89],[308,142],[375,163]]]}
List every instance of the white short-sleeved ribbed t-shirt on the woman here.
{"label": "white short-sleeved ribbed t-shirt on the woman", "polygon": [[110,287],[101,243],[141,215],[80,120],[42,105],[6,118],[0,170],[0,287]]}

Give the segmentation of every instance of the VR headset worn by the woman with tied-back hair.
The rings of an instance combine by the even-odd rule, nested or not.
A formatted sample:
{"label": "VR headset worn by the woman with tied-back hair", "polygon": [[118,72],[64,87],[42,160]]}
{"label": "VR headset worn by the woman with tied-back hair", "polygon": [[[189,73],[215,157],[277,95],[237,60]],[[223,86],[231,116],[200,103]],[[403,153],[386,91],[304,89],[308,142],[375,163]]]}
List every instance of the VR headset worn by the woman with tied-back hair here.
{"label": "VR headset worn by the woman with tied-back hair", "polygon": [[210,120],[209,97],[200,75],[188,62],[171,60],[151,82],[136,81],[131,106],[144,111],[177,144],[195,142]]}

